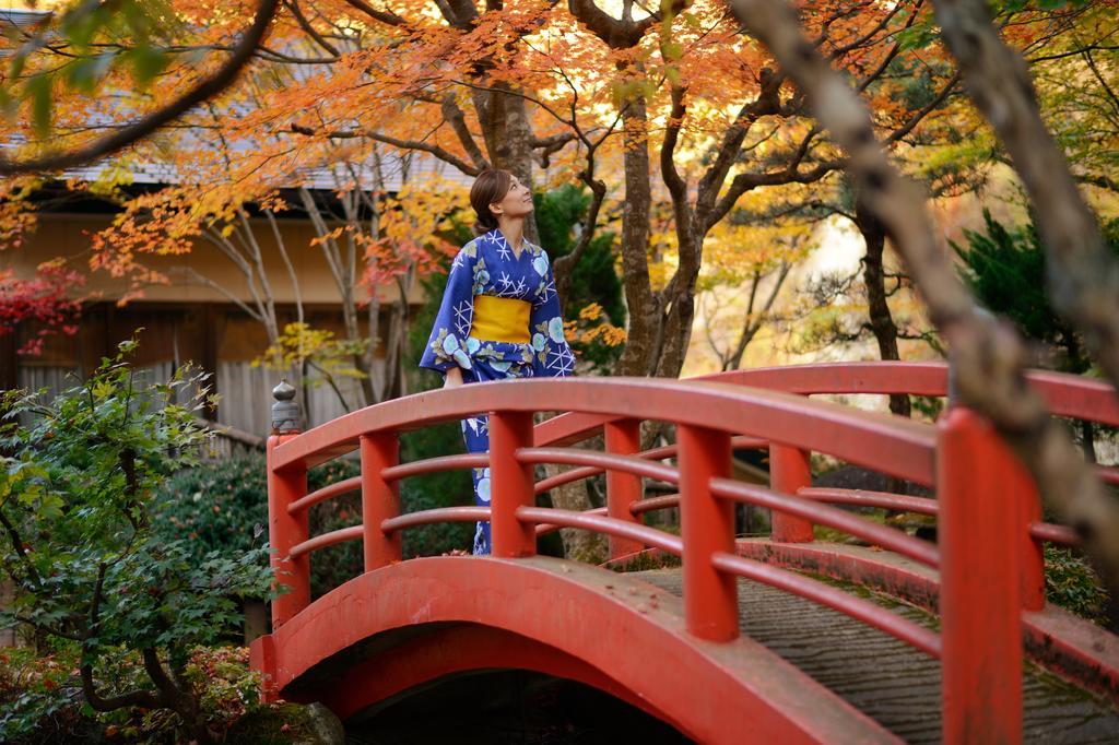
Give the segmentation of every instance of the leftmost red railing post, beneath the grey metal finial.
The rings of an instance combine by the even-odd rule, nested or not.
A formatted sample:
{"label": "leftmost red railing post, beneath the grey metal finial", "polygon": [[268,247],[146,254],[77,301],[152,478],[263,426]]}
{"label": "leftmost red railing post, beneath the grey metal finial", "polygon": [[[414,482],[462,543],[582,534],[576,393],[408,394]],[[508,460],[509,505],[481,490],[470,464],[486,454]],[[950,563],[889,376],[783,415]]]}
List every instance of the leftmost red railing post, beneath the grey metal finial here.
{"label": "leftmost red railing post, beneath the grey metal finial", "polygon": [[269,540],[272,546],[272,570],[276,584],[288,591],[272,601],[272,630],[275,631],[311,602],[311,562],[304,554],[289,558],[292,547],[308,539],[307,510],[297,515],[288,506],[307,496],[307,469],[290,466],[283,471],[274,468],[274,451],[292,434],[272,435],[267,443],[269,469]]}

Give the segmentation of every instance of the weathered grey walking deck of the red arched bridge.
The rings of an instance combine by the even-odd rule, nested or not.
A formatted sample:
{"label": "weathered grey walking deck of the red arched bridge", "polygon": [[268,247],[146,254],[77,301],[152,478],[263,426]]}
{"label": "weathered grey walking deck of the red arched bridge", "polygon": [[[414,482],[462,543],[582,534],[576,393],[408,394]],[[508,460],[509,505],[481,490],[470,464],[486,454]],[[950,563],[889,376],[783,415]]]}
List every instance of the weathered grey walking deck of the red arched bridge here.
{"label": "weathered grey walking deck of the red arched bridge", "polygon": [[[679,569],[632,573],[675,595]],[[920,623],[934,616],[878,596]],[[793,663],[856,708],[912,743],[940,742],[940,663],[850,617],[765,585],[740,579],[743,633]],[[1026,663],[1024,739],[1034,743],[1119,742],[1119,711]]]}

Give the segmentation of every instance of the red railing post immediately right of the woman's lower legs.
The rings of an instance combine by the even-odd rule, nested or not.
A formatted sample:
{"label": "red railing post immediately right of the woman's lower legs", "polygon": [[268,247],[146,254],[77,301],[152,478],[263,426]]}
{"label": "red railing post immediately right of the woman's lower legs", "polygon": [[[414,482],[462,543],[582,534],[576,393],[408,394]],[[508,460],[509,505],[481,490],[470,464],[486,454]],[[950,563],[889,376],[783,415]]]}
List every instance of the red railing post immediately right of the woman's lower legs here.
{"label": "red railing post immediately right of the woman's lower legs", "polygon": [[517,508],[533,507],[533,465],[517,450],[533,445],[533,415],[493,412],[490,432],[490,553],[507,558],[536,555],[536,527],[517,519]]}

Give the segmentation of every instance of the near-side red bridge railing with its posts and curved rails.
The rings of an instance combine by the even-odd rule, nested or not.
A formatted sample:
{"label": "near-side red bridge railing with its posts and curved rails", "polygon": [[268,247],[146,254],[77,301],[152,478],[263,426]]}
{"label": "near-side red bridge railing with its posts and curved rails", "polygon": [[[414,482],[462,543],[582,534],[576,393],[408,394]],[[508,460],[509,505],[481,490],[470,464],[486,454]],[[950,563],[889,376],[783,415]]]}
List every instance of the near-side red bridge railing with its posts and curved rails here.
{"label": "near-side red bridge railing with its posts and curved rails", "polygon": [[[799,374],[791,369],[793,376]],[[857,387],[854,383],[825,385],[822,372],[817,375],[817,385],[787,379],[784,387],[796,394],[845,393],[845,387]],[[935,370],[928,372],[930,380],[935,375]],[[861,384],[864,388],[865,379]],[[388,402],[303,434],[273,436],[267,449],[270,535],[278,577],[290,587],[273,604],[274,626],[309,605],[310,556],[326,546],[361,540],[365,569],[377,570],[403,559],[399,534],[420,525],[488,519],[496,558],[535,555],[537,535],[548,529],[545,526],[583,528],[609,536],[614,553],[649,546],[679,556],[686,624],[698,638],[726,641],[737,636],[736,578],[767,583],[847,613],[941,658],[946,739],[975,734],[968,728],[978,726],[977,722],[998,727],[989,734],[1017,738],[1023,566],[1031,560],[1027,544],[1033,545],[1031,535],[1040,520],[1036,498],[1023,488],[1021,465],[994,432],[965,409],[950,412],[933,427],[803,395],[752,388],[741,385],[743,381],[720,385],[613,378],[473,385]],[[935,395],[939,389],[934,383],[914,387],[924,395]],[[852,393],[894,393],[892,386],[896,384],[883,377],[882,385]],[[571,413],[534,428],[534,414],[557,409]],[[1099,411],[1092,413],[1098,415]],[[398,437],[403,432],[479,412],[489,413],[488,454],[399,463]],[[1087,414],[1087,408],[1081,413]],[[675,425],[676,445],[639,452],[642,421]],[[596,431],[604,434],[606,452],[566,446]],[[732,445],[762,443],[770,445],[770,487],[730,479]],[[350,480],[308,494],[309,468],[354,450],[360,452],[359,483]],[[825,503],[819,492],[806,491],[811,488],[808,454],[812,452],[935,485],[939,545]],[[666,456],[675,456],[677,465],[658,462]],[[536,482],[535,465],[542,463],[576,468]],[[399,512],[402,479],[483,466],[490,469],[489,508]],[[608,483],[604,510],[587,513],[535,507],[539,491],[601,472]],[[677,485],[678,499],[641,499],[642,479]],[[361,524],[309,536],[308,509],[358,485]],[[892,496],[871,499],[888,501],[887,497]],[[810,540],[811,526],[825,525],[939,569],[941,633],[835,586],[740,556],[735,502],[771,509],[778,524],[787,521],[786,539]],[[645,511],[671,503],[680,508],[680,536],[641,524]]]}

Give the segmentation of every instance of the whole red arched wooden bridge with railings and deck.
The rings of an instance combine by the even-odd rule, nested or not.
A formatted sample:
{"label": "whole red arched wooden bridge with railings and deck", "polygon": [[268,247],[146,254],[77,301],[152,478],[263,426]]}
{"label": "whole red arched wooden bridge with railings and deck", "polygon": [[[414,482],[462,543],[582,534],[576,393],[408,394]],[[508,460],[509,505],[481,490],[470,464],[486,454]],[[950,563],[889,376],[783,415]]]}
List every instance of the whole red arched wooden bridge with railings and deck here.
{"label": "whole red arched wooden bridge with railings and deck", "polygon": [[[342,719],[450,676],[521,669],[606,691],[703,743],[1117,742],[1119,639],[1046,604],[1043,545],[1076,537],[1043,521],[989,426],[962,407],[933,425],[811,397],[946,396],[947,378],[937,364],[847,364],[507,381],[275,435],[270,535],[290,592],[253,664],[269,696],[320,700]],[[1054,414],[1119,426],[1108,386],[1047,372],[1032,383]],[[398,461],[401,433],[479,412],[490,413],[488,455]],[[539,412],[560,415],[534,426]],[[647,421],[676,444],[641,452]],[[598,435],[601,451],[574,446]],[[732,478],[732,451],[746,449],[768,450],[768,487]],[[360,477],[308,493],[308,469],[354,451]],[[810,453],[934,498],[814,488]],[[549,463],[575,468],[537,481]],[[490,507],[401,513],[401,480],[483,465]],[[536,506],[603,473],[602,509]],[[646,497],[653,481],[678,493]],[[355,490],[359,525],[308,535],[314,504]],[[771,510],[771,536],[736,538],[737,503]],[[937,540],[849,506],[932,516]],[[678,532],[645,525],[666,509],[678,509]],[[401,531],[474,520],[491,524],[491,557],[403,560]],[[814,540],[814,526],[862,545]],[[557,527],[609,536],[615,564],[649,551],[679,566],[620,573],[538,556],[537,537]],[[349,540],[363,541],[365,573],[312,602],[312,554]]]}

